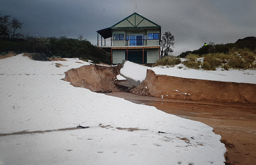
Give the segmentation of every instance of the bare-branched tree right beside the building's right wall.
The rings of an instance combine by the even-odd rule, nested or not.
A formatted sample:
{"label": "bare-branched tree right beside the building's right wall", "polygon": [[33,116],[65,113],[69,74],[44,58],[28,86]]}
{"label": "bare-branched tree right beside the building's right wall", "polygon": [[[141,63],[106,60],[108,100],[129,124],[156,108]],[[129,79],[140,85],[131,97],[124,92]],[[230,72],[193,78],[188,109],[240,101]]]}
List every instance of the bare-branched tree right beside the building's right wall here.
{"label": "bare-branched tree right beside the building's right wall", "polygon": [[171,35],[169,31],[165,32],[161,39],[161,54],[160,57],[163,58],[165,56],[168,56],[169,53],[173,52],[172,47],[174,45],[174,36]]}

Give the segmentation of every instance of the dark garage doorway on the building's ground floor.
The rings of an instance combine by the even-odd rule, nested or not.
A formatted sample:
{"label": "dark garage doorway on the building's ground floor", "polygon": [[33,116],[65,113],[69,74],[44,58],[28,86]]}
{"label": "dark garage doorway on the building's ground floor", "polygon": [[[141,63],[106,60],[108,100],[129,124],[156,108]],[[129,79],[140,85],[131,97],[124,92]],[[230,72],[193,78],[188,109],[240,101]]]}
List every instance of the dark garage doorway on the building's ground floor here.
{"label": "dark garage doorway on the building's ground floor", "polygon": [[128,61],[138,63],[138,64],[146,64],[147,63],[147,51],[144,51],[144,62],[143,62],[143,52],[142,51],[135,51],[135,52],[128,51],[128,59],[127,59],[127,52],[125,54],[125,59]]}

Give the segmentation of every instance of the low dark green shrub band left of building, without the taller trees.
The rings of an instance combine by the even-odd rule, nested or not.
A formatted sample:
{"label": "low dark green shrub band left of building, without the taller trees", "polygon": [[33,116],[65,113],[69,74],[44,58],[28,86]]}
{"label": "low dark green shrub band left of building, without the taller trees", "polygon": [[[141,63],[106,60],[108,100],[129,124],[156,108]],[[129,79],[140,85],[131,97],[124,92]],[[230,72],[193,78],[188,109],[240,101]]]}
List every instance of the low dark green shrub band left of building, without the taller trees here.
{"label": "low dark green shrub band left of building, without the taller trees", "polygon": [[[47,57],[80,58],[94,63],[110,64],[110,55],[104,54],[87,40],[66,37],[26,37],[24,39],[0,40],[0,52],[37,53]],[[4,53],[5,52],[5,53]],[[44,54],[44,55],[43,55]]]}

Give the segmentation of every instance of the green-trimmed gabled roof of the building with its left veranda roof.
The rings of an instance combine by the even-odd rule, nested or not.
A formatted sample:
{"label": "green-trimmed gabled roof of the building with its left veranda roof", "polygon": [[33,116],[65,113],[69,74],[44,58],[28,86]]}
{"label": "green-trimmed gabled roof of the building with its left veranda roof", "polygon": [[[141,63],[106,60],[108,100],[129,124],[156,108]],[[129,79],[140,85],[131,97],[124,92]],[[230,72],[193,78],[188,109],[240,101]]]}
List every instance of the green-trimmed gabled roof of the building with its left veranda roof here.
{"label": "green-trimmed gabled roof of the building with its left veranda roof", "polygon": [[97,31],[97,33],[99,33],[105,39],[110,38],[111,29],[114,28],[161,28],[161,26],[135,12],[113,26]]}

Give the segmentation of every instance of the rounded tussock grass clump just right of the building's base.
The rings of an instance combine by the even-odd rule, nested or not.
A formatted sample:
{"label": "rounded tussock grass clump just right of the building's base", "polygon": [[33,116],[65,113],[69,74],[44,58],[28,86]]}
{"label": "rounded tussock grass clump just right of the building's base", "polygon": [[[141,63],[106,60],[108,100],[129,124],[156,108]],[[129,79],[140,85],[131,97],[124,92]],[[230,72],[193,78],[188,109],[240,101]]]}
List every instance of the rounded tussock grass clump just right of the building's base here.
{"label": "rounded tussock grass clump just right of the building's base", "polygon": [[153,66],[171,66],[171,67],[173,67],[180,63],[181,63],[180,58],[171,55],[171,56],[166,56],[164,58],[157,60]]}

